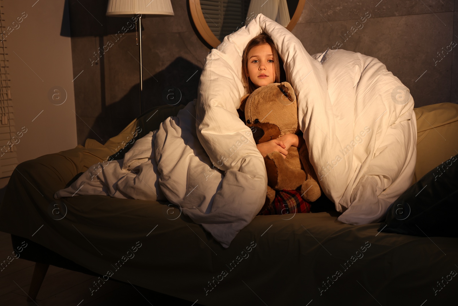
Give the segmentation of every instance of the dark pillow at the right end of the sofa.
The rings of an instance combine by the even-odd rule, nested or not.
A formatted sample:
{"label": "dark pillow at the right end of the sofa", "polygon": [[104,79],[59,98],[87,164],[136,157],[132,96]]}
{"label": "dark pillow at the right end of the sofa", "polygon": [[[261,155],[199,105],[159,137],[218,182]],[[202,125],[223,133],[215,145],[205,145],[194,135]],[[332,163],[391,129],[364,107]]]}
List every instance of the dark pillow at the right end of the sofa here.
{"label": "dark pillow at the right end of the sofa", "polygon": [[458,237],[458,154],[426,173],[387,210],[379,231]]}

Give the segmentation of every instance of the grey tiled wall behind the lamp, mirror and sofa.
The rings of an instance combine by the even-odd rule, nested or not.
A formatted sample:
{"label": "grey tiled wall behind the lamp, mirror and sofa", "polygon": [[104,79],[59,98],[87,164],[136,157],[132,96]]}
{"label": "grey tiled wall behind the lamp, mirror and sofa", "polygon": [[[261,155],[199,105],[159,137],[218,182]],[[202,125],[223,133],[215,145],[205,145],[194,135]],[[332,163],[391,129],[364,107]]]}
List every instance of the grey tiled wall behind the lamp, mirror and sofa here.
{"label": "grey tiled wall behind the lamp, mirror and sofa", "polygon": [[[458,103],[458,46],[449,47],[458,43],[458,0],[359,1],[308,0],[292,33],[310,54],[340,41],[341,49],[376,57],[410,89],[415,107]],[[135,28],[116,36],[130,19],[105,17],[107,2],[69,2],[74,76],[83,71],[74,81],[80,144],[104,143],[140,114]],[[187,2],[172,0],[174,17],[142,21],[144,110],[197,97],[210,47]]]}

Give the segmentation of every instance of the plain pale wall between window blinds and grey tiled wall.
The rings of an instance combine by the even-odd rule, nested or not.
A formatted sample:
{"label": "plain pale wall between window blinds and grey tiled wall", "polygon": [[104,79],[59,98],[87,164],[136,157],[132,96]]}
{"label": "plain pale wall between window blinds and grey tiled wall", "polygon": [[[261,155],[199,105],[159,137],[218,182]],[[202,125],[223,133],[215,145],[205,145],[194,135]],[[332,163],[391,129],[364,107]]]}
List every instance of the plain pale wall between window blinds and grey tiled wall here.
{"label": "plain pale wall between window blinds and grey tiled wall", "polygon": [[[74,74],[72,69],[71,38],[60,35],[63,22],[64,27],[70,28],[68,12],[63,15],[65,0],[2,0],[0,4],[3,26],[16,21],[16,29],[5,38],[5,46],[16,131],[27,128],[16,145],[18,162],[74,148],[77,142],[72,80],[79,71]],[[17,17],[26,14],[22,22],[17,22]],[[54,86],[66,91],[62,105],[55,105],[60,103],[58,92],[54,92],[55,104],[48,98]],[[64,95],[60,94],[60,101]]]}

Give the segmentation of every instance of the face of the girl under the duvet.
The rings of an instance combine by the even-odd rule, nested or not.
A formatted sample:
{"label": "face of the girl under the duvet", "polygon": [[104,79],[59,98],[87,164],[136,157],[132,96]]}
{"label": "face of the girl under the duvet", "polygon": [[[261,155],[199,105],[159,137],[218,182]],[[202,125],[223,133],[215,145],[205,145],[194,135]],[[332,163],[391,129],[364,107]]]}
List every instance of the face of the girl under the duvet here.
{"label": "face of the girl under the duvet", "polygon": [[258,45],[248,52],[248,77],[256,88],[275,81],[273,52],[269,44]]}

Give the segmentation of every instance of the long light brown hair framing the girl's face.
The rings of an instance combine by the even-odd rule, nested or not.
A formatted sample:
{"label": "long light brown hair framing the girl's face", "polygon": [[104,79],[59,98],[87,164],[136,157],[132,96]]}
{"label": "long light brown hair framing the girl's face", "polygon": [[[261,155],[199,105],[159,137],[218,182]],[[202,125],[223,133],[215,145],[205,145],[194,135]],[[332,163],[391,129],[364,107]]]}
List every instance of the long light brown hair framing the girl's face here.
{"label": "long light brown hair framing the girl's face", "polygon": [[273,61],[274,61],[273,69],[275,71],[275,80],[273,83],[280,83],[280,61],[279,61],[277,49],[275,48],[275,45],[273,44],[273,41],[270,38],[270,36],[265,33],[261,33],[250,40],[248,45],[246,45],[245,50],[243,51],[243,55],[242,55],[242,83],[248,94],[251,94],[256,89],[256,85],[253,82],[251,82],[250,78],[247,76],[248,74],[248,53],[250,52],[250,50],[253,47],[256,47],[258,45],[265,45],[265,44],[270,45],[270,48],[272,49]]}

